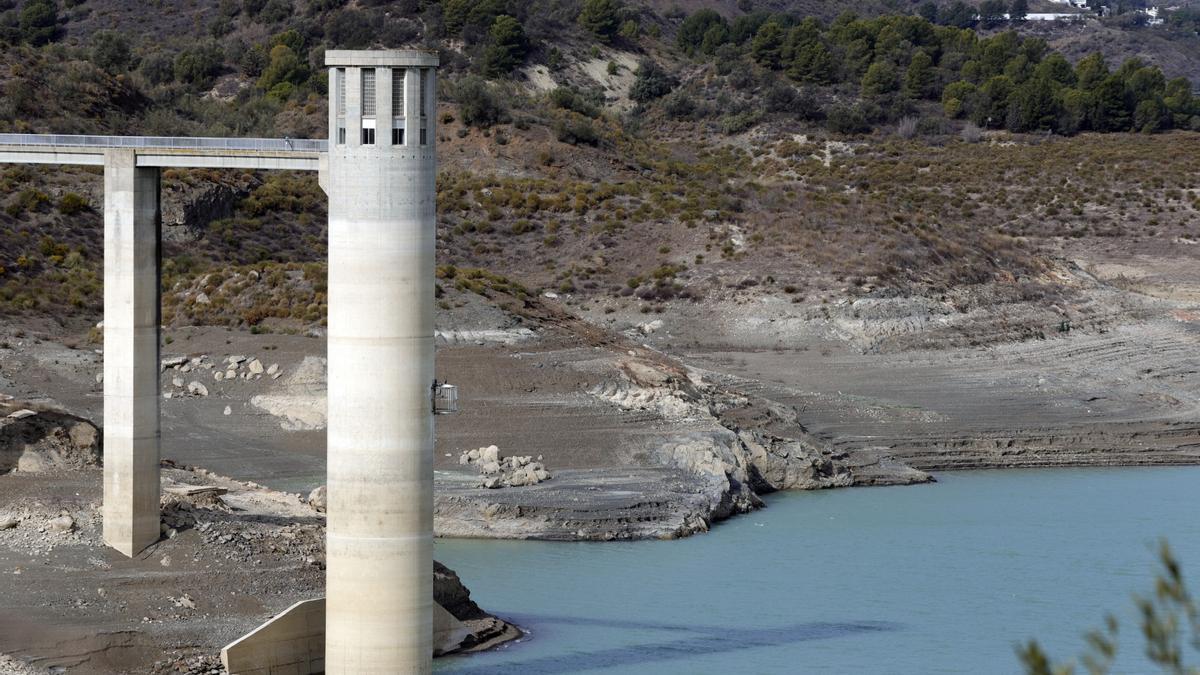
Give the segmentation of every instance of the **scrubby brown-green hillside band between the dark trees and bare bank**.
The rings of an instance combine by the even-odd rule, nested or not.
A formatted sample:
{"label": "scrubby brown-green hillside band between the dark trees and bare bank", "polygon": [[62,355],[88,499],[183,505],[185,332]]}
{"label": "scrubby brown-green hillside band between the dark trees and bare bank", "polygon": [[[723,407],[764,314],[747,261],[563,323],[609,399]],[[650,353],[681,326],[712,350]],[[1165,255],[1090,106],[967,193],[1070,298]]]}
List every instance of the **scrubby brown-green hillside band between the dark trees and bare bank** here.
{"label": "scrubby brown-green hillside band between the dark trees and bare bank", "polygon": [[[696,148],[610,138],[629,157],[553,155],[524,177],[449,161],[439,179],[444,291],[658,309],[713,295],[782,291],[926,294],[996,285],[994,301],[1057,292],[1046,251],[1196,239],[1200,135],[1010,137],[983,143],[780,135]],[[490,151],[494,136],[455,143]],[[199,175],[205,173],[205,175]],[[208,172],[168,172],[173,184]],[[102,223],[92,173],[10,168],[0,213],[0,303],[8,312],[102,301]],[[16,186],[20,186],[17,189]],[[325,312],[324,199],[312,177],[254,178],[233,217],[168,244],[164,321],[301,330]]]}

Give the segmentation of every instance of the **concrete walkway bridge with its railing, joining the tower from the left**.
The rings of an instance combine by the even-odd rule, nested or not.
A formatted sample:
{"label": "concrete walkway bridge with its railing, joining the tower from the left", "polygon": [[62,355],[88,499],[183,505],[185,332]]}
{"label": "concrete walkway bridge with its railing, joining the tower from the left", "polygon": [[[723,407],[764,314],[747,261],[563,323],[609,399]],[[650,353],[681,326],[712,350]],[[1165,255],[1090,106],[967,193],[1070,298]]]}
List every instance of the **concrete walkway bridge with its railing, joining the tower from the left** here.
{"label": "concrete walkway bridge with its railing, joining the tower from the left", "polygon": [[0,163],[104,166],[132,150],[138,167],[318,171],[328,142],[310,138],[186,138],[0,133]]}

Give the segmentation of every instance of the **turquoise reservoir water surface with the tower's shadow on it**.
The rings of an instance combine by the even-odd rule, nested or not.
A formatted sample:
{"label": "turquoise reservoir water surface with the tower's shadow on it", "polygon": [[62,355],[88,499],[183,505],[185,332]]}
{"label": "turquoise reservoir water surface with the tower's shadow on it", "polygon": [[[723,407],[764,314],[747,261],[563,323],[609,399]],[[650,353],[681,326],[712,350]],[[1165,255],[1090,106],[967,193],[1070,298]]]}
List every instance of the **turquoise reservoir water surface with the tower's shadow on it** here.
{"label": "turquoise reservoir water surface with the tower's shadow on it", "polygon": [[1158,538],[1200,592],[1200,467],[944,473],[793,492],[678,542],[439,540],[480,605],[530,631],[445,674],[1018,673],[1015,644],[1152,671],[1130,595]]}

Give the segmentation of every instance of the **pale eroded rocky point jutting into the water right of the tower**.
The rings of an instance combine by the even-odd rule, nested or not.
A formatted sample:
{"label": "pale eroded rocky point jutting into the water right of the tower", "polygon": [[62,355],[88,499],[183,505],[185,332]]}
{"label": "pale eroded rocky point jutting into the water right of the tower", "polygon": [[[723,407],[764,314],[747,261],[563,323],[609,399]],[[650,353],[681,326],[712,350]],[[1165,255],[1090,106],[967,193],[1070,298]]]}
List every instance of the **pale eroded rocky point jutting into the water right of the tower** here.
{"label": "pale eroded rocky point jutting into the water right of the tower", "polygon": [[[595,466],[595,456],[547,453],[553,479],[535,485],[487,490],[469,473],[439,471],[438,536],[677,538],[761,508],[761,496],[776,490],[932,479],[883,448],[832,449],[806,432],[794,410],[719,386],[656,352],[554,356],[568,357],[558,360],[564,370],[598,377],[583,392],[587,400],[572,405],[600,404],[641,431],[607,454],[607,466]],[[571,468],[556,466],[564,455]]]}

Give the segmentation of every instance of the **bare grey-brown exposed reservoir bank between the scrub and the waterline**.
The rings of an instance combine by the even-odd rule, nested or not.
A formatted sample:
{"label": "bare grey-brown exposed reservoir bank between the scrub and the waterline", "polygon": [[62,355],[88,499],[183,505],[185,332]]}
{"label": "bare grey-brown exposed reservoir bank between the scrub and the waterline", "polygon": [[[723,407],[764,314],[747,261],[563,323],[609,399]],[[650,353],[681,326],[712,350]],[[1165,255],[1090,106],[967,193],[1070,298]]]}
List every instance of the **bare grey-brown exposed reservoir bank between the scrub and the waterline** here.
{"label": "bare grey-brown exposed reservoir bank between the scrub and the waterline", "polygon": [[[1169,247],[1055,261],[1069,300],[968,311],[763,287],[649,316],[455,298],[438,377],[462,411],[438,419],[437,533],[674,538],[774,490],[1200,461],[1195,265]],[[223,644],[319,595],[319,335],[169,333],[167,532],[127,561],[98,539],[98,346],[52,323],[0,331],[0,673],[217,671]],[[528,459],[488,466],[504,458]],[[168,489],[184,484],[226,492]],[[439,599],[478,622],[476,649],[517,634],[462,584],[443,572]]]}

